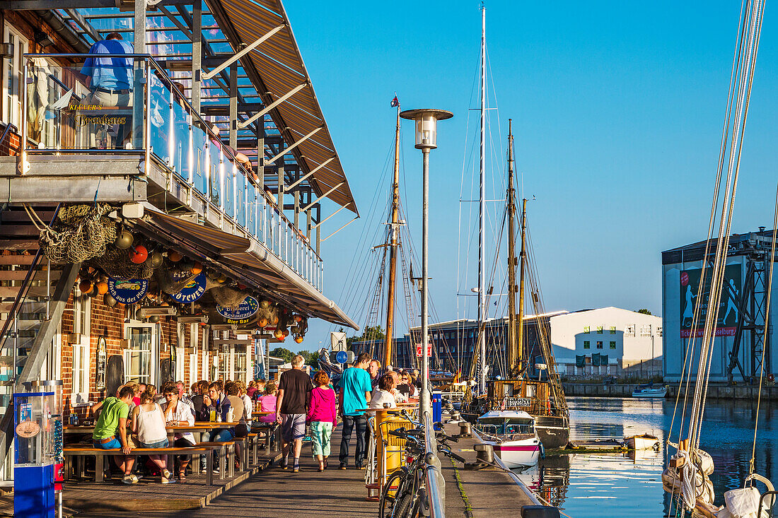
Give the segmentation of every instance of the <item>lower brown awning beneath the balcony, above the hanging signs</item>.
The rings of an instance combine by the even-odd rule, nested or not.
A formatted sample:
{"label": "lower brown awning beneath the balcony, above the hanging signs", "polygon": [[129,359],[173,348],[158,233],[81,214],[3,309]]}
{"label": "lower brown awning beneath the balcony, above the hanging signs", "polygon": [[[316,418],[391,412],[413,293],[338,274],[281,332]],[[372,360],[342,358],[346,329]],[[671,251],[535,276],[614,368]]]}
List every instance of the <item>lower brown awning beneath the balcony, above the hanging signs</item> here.
{"label": "lower brown awning beneath the balcony, above the hanging signs", "polygon": [[202,226],[147,207],[140,224],[163,238],[208,257],[253,282],[310,317],[359,329],[337,304],[254,240]]}

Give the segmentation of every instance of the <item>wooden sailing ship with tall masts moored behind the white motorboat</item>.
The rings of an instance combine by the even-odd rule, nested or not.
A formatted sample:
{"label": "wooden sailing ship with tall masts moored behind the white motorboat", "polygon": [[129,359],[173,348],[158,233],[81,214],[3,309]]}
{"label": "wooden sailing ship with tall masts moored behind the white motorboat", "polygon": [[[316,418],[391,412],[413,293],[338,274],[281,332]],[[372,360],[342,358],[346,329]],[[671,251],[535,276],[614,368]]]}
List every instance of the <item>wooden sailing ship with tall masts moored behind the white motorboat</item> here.
{"label": "wooden sailing ship with tall masts moored behind the white motorboat", "polygon": [[[479,243],[478,243],[478,388],[479,394],[471,397],[469,412],[462,413],[464,418],[478,424],[478,418],[490,411],[526,412],[533,418],[534,431],[546,448],[559,448],[569,441],[569,411],[565,400],[562,384],[556,372],[555,359],[552,352],[550,331],[547,330],[548,319],[542,317],[545,313],[541,307],[541,297],[537,285],[532,290],[532,301],[538,315],[538,329],[546,380],[531,379],[528,376],[530,362],[524,355],[524,280],[527,275],[526,216],[527,200],[522,201],[521,210],[521,243],[520,254],[516,257],[515,250],[515,218],[516,191],[513,187],[513,131],[509,121],[508,135],[508,188],[507,188],[507,220],[508,220],[508,343],[506,346],[508,376],[505,380],[490,379],[486,366],[485,346],[485,278],[484,278],[484,217],[485,217],[485,9],[482,7],[481,33],[481,146],[480,146],[480,199],[479,199]],[[519,266],[519,285],[516,283],[516,267]],[[518,308],[517,308],[518,301]],[[471,376],[475,376],[475,358],[471,363]]]}

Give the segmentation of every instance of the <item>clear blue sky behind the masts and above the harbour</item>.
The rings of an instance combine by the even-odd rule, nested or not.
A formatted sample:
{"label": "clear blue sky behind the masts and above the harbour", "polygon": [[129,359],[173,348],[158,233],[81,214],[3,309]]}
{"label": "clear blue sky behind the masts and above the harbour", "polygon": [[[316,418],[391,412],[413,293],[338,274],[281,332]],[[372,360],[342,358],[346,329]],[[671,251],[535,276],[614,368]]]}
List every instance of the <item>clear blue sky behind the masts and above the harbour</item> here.
{"label": "clear blue sky behind the masts and above the harbour", "polygon": [[[342,289],[352,257],[363,253],[356,250],[359,237],[375,232],[364,228],[371,213],[384,211],[385,194],[377,208],[370,201],[393,138],[389,101],[396,91],[404,109],[454,112],[440,124],[440,147],[431,159],[430,289],[440,318],[457,316],[458,200],[464,149],[476,124],[471,115],[468,129],[468,108],[477,103],[471,92],[478,5],[286,2],[363,215],[322,245],[325,294],[352,313],[359,314],[345,303],[349,289]],[[528,221],[547,309],[661,313],[661,250],[706,233],[740,2],[492,1],[486,7],[502,129],[497,135],[495,116],[492,138],[502,150],[513,118],[517,170],[525,193],[536,198]],[[773,219],[776,14],[768,4],[735,232]],[[404,132],[405,205],[418,243],[421,156],[411,126]],[[325,223],[324,235],[348,220],[339,219],[344,214]],[[470,268],[475,275],[475,263]],[[313,323],[302,348],[326,343],[329,329]]]}

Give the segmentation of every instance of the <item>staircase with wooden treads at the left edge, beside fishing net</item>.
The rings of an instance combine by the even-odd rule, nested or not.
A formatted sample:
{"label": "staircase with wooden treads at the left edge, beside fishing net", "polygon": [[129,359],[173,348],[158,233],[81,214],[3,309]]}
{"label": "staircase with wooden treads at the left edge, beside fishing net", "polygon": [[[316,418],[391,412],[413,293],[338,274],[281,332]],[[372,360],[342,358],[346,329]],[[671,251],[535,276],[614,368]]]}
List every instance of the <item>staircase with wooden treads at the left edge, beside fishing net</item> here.
{"label": "staircase with wooden treads at the left edge, beside fishing net", "polygon": [[[57,209],[37,213],[51,221]],[[24,208],[0,211],[0,486],[12,484],[14,387],[40,377],[80,268],[51,264],[37,236]]]}

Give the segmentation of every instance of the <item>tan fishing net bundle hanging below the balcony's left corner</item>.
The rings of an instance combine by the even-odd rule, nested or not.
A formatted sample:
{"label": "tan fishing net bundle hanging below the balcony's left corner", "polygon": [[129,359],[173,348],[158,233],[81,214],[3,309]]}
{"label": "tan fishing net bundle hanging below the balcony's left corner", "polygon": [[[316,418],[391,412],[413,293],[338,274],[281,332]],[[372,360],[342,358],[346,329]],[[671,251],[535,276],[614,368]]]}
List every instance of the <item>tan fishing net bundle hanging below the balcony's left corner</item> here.
{"label": "tan fishing net bundle hanging below the balcony's left corner", "polygon": [[55,264],[82,263],[102,256],[107,245],[116,240],[116,224],[105,217],[113,210],[105,203],[61,208],[53,226],[44,222],[38,226],[44,255]]}

